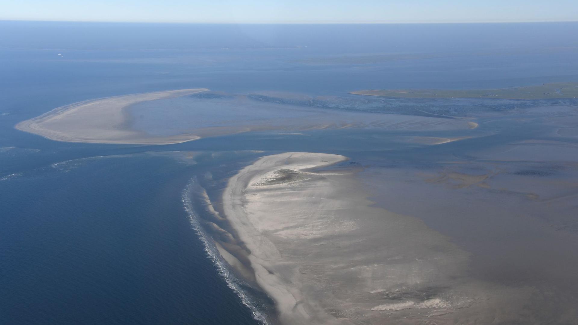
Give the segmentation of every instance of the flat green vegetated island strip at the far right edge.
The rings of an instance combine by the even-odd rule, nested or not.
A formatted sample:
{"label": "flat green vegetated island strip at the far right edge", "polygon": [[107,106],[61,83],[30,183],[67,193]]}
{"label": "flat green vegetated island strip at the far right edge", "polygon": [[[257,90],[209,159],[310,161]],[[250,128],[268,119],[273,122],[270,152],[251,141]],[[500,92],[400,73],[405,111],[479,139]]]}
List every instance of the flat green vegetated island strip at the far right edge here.
{"label": "flat green vegetated island strip at the far right edge", "polygon": [[550,99],[577,98],[578,82],[545,83],[539,86],[502,89],[441,90],[358,90],[350,94],[399,98],[500,98],[500,99]]}

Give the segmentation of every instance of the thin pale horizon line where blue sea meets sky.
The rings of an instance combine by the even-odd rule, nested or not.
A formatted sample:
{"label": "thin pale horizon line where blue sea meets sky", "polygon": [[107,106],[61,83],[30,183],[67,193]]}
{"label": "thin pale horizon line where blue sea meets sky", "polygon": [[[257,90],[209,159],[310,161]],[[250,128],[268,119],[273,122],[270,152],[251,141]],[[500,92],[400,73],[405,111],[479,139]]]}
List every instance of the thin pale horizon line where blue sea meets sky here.
{"label": "thin pale horizon line where blue sea meets sky", "polygon": [[394,24],[529,24],[578,23],[578,20],[496,20],[496,21],[122,21],[122,20],[34,20],[2,19],[30,23],[120,23],[120,24],[187,24],[187,25],[394,25]]}

